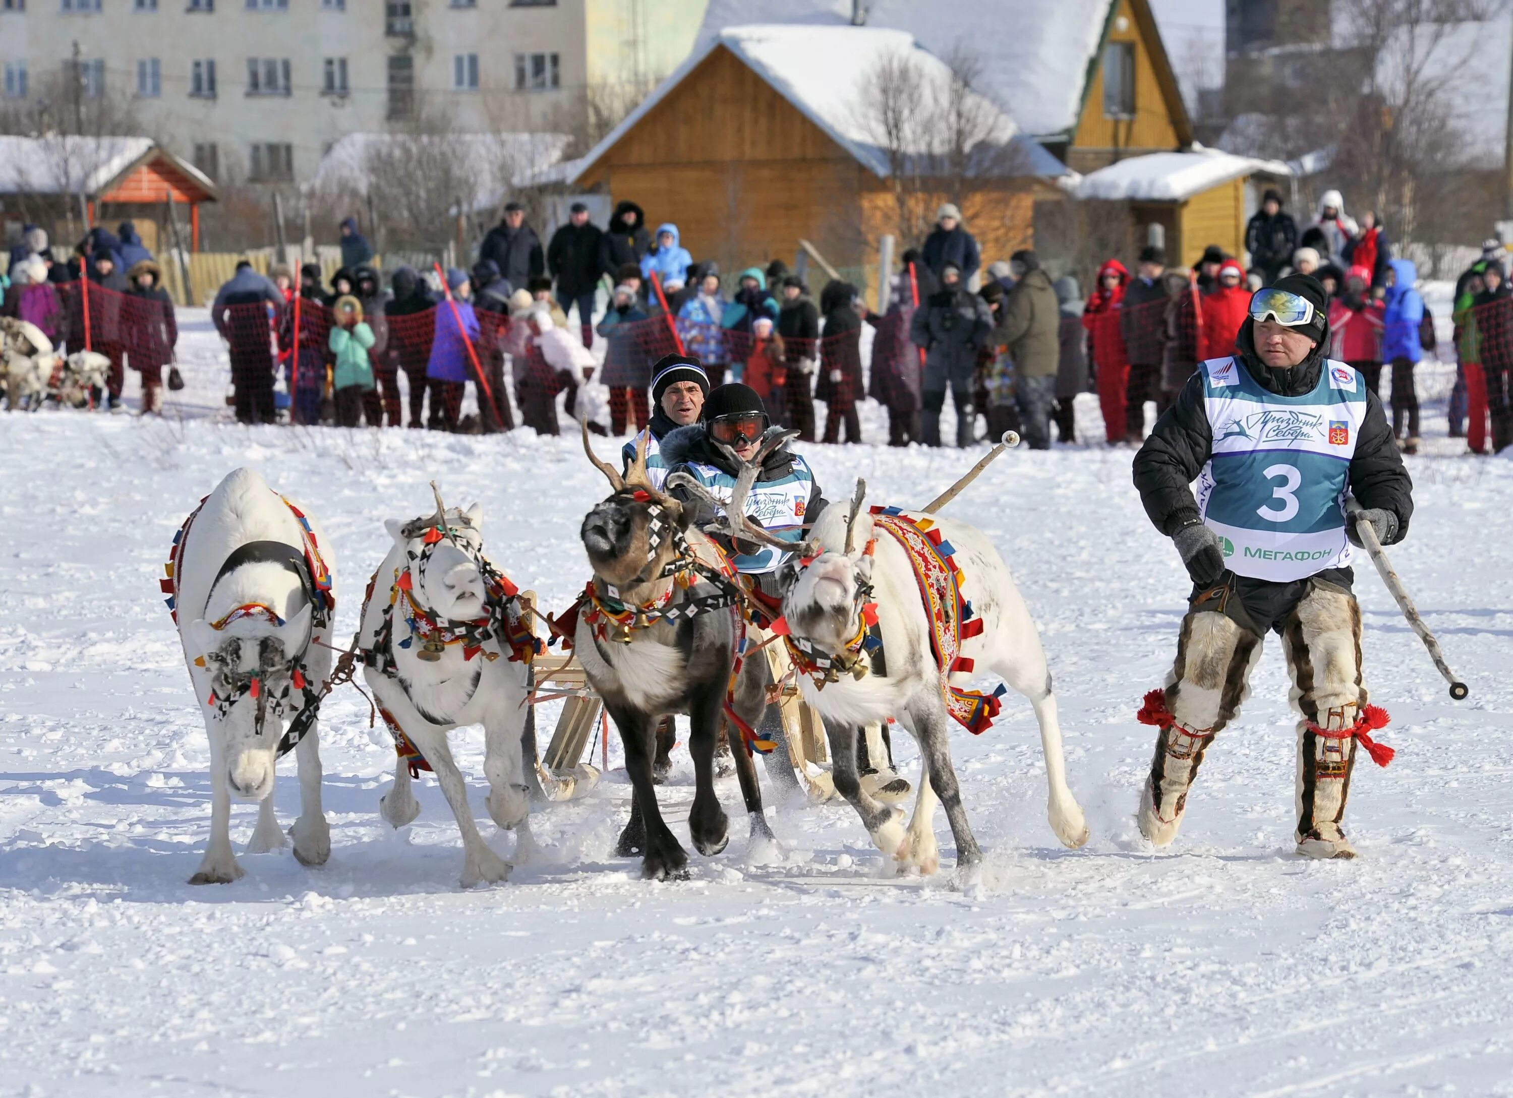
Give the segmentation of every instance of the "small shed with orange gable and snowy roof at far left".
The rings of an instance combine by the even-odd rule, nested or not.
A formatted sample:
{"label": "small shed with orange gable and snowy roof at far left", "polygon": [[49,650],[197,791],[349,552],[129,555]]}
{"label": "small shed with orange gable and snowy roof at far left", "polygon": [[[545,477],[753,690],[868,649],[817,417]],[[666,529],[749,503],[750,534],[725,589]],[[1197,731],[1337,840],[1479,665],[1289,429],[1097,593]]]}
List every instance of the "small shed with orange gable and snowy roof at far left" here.
{"label": "small shed with orange gable and snowy roof at far left", "polygon": [[[151,138],[0,136],[0,201],[27,221],[73,222],[83,201],[89,224],[106,216],[142,219],[144,242],[157,251],[154,227],[168,198],[189,207],[189,248],[200,250],[200,203],[216,201],[215,183]],[[56,231],[54,231],[56,236]]]}

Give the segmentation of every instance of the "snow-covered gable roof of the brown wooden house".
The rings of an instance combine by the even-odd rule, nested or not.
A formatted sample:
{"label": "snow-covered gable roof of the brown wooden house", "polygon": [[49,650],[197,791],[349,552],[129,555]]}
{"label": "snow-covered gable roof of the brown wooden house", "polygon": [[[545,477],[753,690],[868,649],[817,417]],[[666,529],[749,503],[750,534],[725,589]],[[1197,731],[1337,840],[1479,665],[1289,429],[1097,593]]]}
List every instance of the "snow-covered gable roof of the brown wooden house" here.
{"label": "snow-covered gable roof of the brown wooden house", "polygon": [[[791,103],[837,145],[879,177],[888,174],[888,156],[878,144],[867,121],[861,92],[876,65],[887,57],[911,57],[920,76],[930,85],[946,86],[950,70],[940,57],[920,48],[912,35],[902,30],[853,26],[793,26],[756,24],[726,27],[694,50],[678,70],[658,85],[642,103],[611,130],[604,141],[583,157],[583,166],[569,180],[575,181],[595,165],[625,133],[661,103],[673,88],[697,68],[716,48],[725,47],[763,77],[773,91]],[[1067,168],[1038,144],[1020,139],[1014,119],[986,98],[994,133],[986,142],[1012,147],[1023,157],[1023,174],[1064,175]],[[905,150],[929,153],[927,148]]]}

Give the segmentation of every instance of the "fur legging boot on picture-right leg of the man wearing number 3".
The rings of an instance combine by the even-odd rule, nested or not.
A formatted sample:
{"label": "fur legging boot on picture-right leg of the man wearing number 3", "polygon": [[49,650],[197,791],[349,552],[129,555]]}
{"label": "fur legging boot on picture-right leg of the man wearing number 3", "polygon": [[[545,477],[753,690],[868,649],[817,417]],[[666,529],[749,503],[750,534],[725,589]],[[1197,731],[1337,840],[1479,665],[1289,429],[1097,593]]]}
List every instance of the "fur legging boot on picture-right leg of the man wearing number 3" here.
{"label": "fur legging boot on picture-right leg of the man wearing number 3", "polygon": [[1289,614],[1283,637],[1292,705],[1303,717],[1298,721],[1298,826],[1294,835],[1298,853],[1354,858],[1341,820],[1356,768],[1356,729],[1365,727],[1360,723],[1366,709],[1360,606],[1350,593],[1331,584],[1315,584]]}

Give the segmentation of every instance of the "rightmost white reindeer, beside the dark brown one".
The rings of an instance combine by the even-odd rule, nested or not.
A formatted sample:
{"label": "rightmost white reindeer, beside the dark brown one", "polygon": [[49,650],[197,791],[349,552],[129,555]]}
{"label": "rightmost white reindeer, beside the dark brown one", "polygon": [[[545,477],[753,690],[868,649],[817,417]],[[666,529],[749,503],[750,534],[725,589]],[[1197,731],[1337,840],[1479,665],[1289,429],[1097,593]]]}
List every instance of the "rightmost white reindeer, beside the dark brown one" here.
{"label": "rightmost white reindeer, beside the dark brown one", "polygon": [[[744,517],[740,504],[758,464],[741,470],[725,508],[729,534],[793,551],[791,543],[779,541]],[[965,676],[941,672],[911,558],[897,540],[875,529],[873,516],[861,513],[864,495],[865,485],[858,481],[849,513],[826,508],[809,540],[784,564],[782,628],[800,670],[799,688],[825,718],[835,788],[896,868],[912,867],[924,874],[940,868],[930,821],[938,799],[956,839],[956,864],[970,870],[982,861],[982,850],[961,803],[947,735],[952,721],[947,690],[953,678],[959,682]],[[964,634],[961,655],[993,668],[1030,700],[1045,753],[1052,830],[1068,847],[1080,847],[1088,841],[1088,829],[1067,786],[1056,696],[1039,632],[993,543],[964,522],[930,517],[941,540],[955,549],[956,566],[967,576],[982,620],[979,634]],[[986,714],[997,711],[996,700],[982,702]],[[858,729],[888,718],[902,723],[920,746],[918,799],[908,830],[903,811],[879,803],[862,789],[856,774]]]}

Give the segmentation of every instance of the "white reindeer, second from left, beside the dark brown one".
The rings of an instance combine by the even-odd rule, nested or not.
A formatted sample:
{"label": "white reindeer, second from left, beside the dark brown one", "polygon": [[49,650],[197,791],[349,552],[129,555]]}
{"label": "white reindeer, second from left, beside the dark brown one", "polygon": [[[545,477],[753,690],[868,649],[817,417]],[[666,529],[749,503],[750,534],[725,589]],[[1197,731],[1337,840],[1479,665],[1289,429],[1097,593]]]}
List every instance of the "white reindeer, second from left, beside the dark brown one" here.
{"label": "white reindeer, second from left, beside the dark brown one", "polygon": [[[483,724],[489,815],[504,829],[527,823],[525,767],[536,762],[534,741],[525,744],[527,649],[536,641],[513,585],[483,555],[481,523],[477,504],[448,511],[440,498],[433,516],[387,520],[393,547],[374,575],[359,635],[363,678],[390,730],[419,750],[457,817],[464,888],[504,880],[510,865],[478,833],[446,734]],[[404,755],[378,811],[393,827],[421,812]]]}

